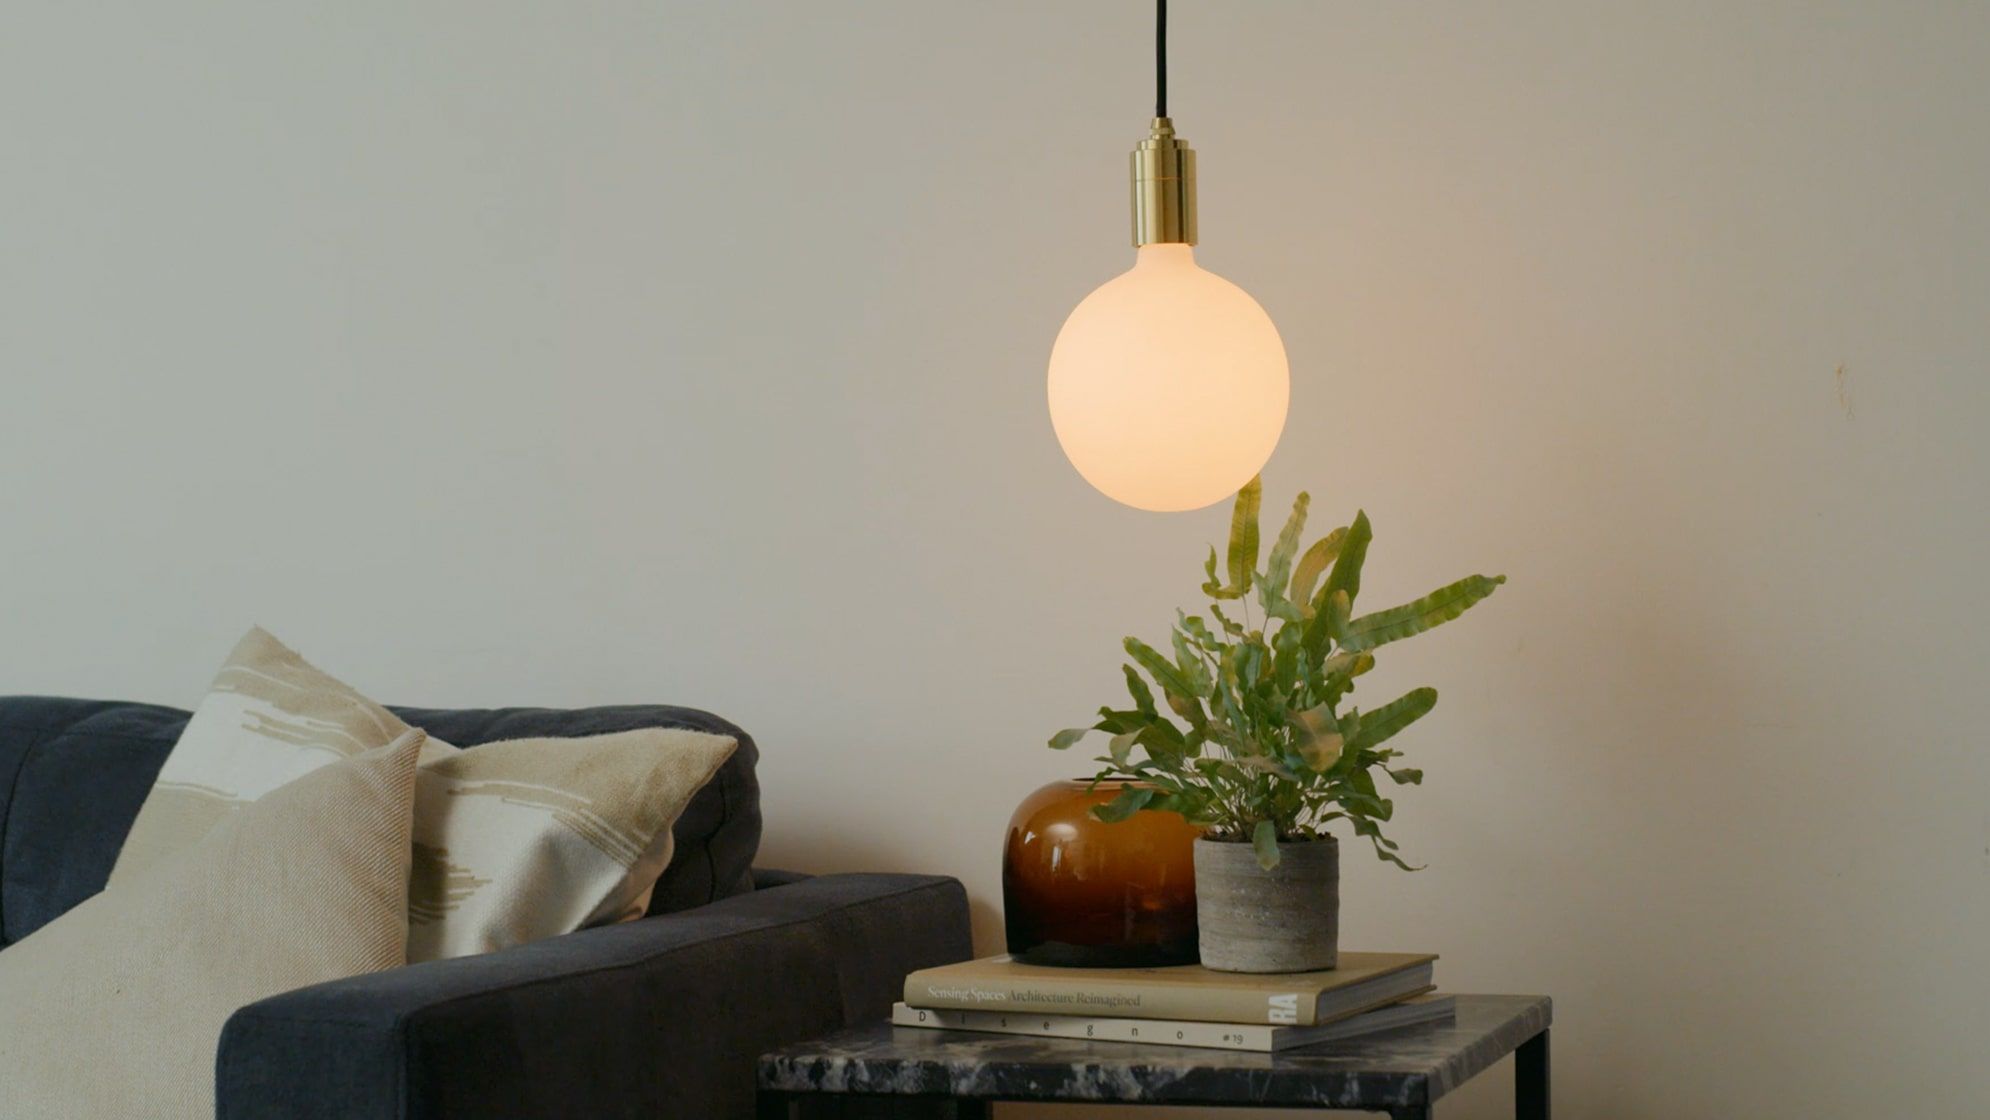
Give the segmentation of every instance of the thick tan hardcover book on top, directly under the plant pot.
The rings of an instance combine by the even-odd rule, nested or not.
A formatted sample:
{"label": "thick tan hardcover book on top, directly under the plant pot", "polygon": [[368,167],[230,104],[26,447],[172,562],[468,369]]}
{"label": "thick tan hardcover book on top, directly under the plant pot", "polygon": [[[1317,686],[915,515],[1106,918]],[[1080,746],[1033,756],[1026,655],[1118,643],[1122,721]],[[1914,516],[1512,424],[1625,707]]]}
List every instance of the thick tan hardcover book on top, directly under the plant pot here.
{"label": "thick tan hardcover book on top, directly under the plant pot", "polygon": [[905,1005],[1110,1019],[1192,1019],[1315,1027],[1431,991],[1435,953],[1341,953],[1323,973],[1216,973],[1166,969],[1053,969],[1007,955],[921,969],[905,977]]}

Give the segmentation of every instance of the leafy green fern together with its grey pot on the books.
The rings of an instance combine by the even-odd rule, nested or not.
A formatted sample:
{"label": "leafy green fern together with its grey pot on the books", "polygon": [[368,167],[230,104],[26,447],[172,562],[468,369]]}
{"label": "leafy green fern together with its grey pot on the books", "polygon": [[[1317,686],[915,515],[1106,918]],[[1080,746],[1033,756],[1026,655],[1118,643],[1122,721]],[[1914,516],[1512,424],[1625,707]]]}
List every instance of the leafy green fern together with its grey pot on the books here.
{"label": "leafy green fern together with its grey pot on the books", "polygon": [[1457,619],[1506,577],[1471,575],[1413,603],[1355,615],[1367,515],[1357,511],[1351,525],[1301,553],[1309,497],[1299,493],[1260,571],[1260,495],[1258,479],[1238,491],[1228,579],[1216,573],[1214,547],[1204,563],[1208,619],[1176,611],[1172,656],[1126,639],[1132,706],[1100,708],[1096,724],[1057,732],[1051,746],[1065,750],[1089,732],[1110,736],[1093,782],[1122,784],[1093,810],[1098,820],[1172,810],[1204,830],[1194,855],[1204,967],[1331,969],[1339,843],[1327,826],[1345,822],[1377,857],[1415,869],[1381,834],[1393,804],[1375,778],[1423,782],[1383,744],[1437,704],[1435,688],[1413,688],[1363,712],[1347,702],[1355,678],[1375,666],[1375,649]]}

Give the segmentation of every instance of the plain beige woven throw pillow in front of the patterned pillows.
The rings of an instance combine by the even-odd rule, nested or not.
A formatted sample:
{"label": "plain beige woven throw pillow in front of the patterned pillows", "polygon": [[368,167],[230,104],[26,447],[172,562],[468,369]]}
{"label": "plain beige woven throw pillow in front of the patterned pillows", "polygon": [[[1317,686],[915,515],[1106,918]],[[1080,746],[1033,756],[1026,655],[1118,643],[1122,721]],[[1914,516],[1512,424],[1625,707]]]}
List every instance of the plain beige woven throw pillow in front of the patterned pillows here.
{"label": "plain beige woven throw pillow in front of the patterned pillows", "polygon": [[211,1118],[235,1009],[400,965],[420,750],[306,774],[0,953],[0,1116]]}

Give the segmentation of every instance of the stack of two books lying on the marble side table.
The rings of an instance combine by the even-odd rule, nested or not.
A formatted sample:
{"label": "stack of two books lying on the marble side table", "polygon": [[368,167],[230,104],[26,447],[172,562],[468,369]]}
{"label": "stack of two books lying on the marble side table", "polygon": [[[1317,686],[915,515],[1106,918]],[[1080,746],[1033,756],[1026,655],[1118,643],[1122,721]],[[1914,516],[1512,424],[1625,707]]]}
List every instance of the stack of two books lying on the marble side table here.
{"label": "stack of two books lying on the marble side table", "polygon": [[1325,973],[1053,969],[1007,955],[905,977],[897,1027],[991,1030],[1222,1050],[1286,1050],[1449,1023],[1431,953],[1341,953]]}

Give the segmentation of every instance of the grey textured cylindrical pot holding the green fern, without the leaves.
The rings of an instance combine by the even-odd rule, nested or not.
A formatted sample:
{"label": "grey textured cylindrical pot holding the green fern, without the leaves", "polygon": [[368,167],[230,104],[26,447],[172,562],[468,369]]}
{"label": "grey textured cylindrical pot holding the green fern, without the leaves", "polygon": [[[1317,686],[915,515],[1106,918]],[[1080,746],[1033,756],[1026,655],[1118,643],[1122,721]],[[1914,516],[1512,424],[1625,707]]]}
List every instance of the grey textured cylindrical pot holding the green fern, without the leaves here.
{"label": "grey textured cylindrical pot holding the green fern, without the leaves", "polygon": [[1202,967],[1224,973],[1309,973],[1339,961],[1341,845],[1278,845],[1266,871],[1250,843],[1196,841]]}

